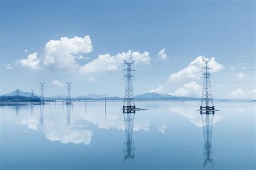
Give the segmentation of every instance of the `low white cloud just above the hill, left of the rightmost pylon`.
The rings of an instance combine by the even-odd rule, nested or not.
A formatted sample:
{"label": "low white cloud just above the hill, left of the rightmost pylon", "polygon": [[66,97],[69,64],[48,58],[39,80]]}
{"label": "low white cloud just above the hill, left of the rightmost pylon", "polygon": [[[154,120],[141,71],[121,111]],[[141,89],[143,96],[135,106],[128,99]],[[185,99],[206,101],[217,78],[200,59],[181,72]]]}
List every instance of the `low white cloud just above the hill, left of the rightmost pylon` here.
{"label": "low white cloud just above the hill, left of the rightmost pylon", "polygon": [[199,86],[196,81],[191,81],[185,84],[183,87],[179,87],[174,93],[169,93],[173,96],[185,96],[185,97],[200,97],[202,87]]}

